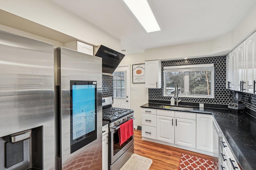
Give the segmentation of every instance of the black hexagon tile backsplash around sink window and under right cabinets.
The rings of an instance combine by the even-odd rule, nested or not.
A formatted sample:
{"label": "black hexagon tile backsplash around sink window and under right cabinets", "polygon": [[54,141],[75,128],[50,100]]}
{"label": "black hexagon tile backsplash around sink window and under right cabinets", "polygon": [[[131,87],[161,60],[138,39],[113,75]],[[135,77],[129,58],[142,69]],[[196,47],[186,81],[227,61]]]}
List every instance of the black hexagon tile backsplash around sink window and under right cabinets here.
{"label": "black hexagon tile backsplash around sink window and under right cabinets", "polygon": [[[162,77],[164,66],[206,63],[215,64],[215,99],[181,97],[182,101],[228,105],[232,100],[228,97],[230,90],[226,89],[226,56],[162,61]],[[163,96],[163,84],[162,79],[162,89],[148,89],[148,99],[170,101],[171,97]],[[243,101],[246,107],[256,111],[256,95],[244,93]]]}

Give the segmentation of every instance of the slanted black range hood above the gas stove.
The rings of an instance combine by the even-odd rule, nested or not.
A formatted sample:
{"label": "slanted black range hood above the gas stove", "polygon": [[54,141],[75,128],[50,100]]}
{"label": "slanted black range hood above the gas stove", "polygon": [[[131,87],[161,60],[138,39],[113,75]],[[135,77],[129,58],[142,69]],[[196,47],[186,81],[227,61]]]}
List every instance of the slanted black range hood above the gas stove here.
{"label": "slanted black range hood above the gas stove", "polygon": [[114,73],[116,67],[124,58],[124,54],[114,51],[104,45],[94,47],[94,53],[97,57],[102,57],[102,73]]}

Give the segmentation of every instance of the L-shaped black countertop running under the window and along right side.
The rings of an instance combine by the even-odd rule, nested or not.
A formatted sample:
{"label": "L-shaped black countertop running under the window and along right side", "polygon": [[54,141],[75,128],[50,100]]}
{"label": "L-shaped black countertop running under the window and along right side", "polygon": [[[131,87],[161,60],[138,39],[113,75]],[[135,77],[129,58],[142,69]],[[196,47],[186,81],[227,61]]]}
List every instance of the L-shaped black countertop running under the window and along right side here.
{"label": "L-shaped black countertop running under the window and along right side", "polygon": [[243,170],[256,170],[255,117],[248,113],[232,113],[229,112],[228,109],[201,109],[199,107],[193,107],[193,110],[189,111],[180,109],[166,109],[163,108],[162,105],[163,104],[161,103],[146,103],[141,107],[212,114]]}

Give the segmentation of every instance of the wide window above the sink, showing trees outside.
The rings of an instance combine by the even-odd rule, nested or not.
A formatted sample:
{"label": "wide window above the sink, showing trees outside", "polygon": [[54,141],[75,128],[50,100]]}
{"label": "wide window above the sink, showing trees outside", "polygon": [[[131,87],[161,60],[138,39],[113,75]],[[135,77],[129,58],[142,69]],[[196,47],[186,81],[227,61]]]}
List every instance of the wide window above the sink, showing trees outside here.
{"label": "wide window above the sink, showing trees outside", "polygon": [[214,64],[167,66],[163,69],[164,96],[214,98]]}

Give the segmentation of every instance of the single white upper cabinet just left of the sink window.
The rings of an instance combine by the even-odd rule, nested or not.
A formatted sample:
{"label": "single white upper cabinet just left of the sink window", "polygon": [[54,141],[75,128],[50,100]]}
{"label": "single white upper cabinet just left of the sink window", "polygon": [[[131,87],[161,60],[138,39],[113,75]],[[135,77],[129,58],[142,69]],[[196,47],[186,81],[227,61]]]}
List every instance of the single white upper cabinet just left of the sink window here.
{"label": "single white upper cabinet just left of the sink window", "polygon": [[162,88],[161,61],[145,61],[145,87]]}

